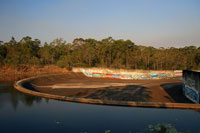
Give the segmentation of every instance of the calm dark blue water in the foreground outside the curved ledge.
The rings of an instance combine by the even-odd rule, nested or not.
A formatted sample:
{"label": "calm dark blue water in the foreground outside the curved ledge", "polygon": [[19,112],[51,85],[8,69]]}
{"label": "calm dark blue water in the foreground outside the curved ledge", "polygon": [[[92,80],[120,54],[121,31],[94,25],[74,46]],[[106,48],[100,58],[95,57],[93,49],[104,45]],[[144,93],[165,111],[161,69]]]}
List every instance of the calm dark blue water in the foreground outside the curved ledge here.
{"label": "calm dark blue water in the foreground outside the curved ledge", "polygon": [[134,133],[150,125],[200,132],[200,111],[103,106],[34,97],[0,83],[0,133]]}

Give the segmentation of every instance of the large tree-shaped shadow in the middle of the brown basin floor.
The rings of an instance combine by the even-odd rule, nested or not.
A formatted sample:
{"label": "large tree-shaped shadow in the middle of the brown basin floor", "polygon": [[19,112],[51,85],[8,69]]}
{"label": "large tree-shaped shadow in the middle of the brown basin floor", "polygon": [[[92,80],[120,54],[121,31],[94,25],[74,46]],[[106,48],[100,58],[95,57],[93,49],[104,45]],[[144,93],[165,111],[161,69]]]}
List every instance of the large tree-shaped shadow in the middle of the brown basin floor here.
{"label": "large tree-shaped shadow in the middle of the brown basin floor", "polygon": [[146,102],[151,98],[151,91],[143,86],[127,85],[96,89],[92,93],[88,91],[84,94],[78,93],[75,97],[80,95],[87,95],[84,98],[91,99]]}

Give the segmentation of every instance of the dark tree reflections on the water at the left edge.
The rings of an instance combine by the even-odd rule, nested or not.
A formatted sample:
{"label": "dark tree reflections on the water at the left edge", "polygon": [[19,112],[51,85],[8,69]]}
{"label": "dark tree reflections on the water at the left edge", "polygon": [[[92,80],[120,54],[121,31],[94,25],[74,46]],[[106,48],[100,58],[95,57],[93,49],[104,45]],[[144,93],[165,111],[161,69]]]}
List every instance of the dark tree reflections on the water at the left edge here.
{"label": "dark tree reflections on the water at the left edge", "polygon": [[33,105],[34,102],[40,103],[42,100],[41,97],[31,96],[17,91],[13,87],[13,83],[6,83],[5,85],[0,86],[0,98],[4,94],[9,95],[5,95],[6,97],[2,97],[3,100],[0,101],[0,106],[3,106],[4,104],[6,104],[6,102],[11,102],[15,110],[17,109],[19,102],[22,102],[24,105],[30,107]]}

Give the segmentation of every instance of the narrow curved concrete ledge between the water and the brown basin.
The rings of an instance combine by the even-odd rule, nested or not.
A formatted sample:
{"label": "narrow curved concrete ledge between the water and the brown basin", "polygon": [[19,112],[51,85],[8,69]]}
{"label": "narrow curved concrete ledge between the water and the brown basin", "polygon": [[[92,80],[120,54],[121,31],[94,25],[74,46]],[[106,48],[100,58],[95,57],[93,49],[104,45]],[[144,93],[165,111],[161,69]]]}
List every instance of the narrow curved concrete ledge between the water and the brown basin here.
{"label": "narrow curved concrete ledge between the water and the brown basin", "polygon": [[27,78],[17,81],[14,87],[23,93],[40,96],[44,98],[79,102],[79,103],[89,103],[89,104],[103,104],[103,105],[113,105],[113,106],[133,106],[133,107],[151,107],[151,108],[172,108],[172,109],[200,109],[200,104],[185,104],[185,103],[162,103],[162,102],[134,102],[134,101],[113,101],[113,100],[100,100],[100,99],[86,99],[86,98],[75,98],[66,97],[60,95],[53,95],[47,93],[41,93],[37,91],[30,90],[23,87],[25,82],[29,82],[37,77]]}

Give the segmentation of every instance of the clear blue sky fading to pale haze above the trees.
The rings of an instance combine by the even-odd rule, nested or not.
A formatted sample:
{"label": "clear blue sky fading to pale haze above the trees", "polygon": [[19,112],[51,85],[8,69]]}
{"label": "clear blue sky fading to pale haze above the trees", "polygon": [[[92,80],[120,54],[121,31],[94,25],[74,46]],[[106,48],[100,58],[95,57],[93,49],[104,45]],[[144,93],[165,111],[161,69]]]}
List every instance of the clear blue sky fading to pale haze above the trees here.
{"label": "clear blue sky fading to pale haze above the trees", "polygon": [[200,46],[200,0],[0,0],[0,40],[30,36]]}

